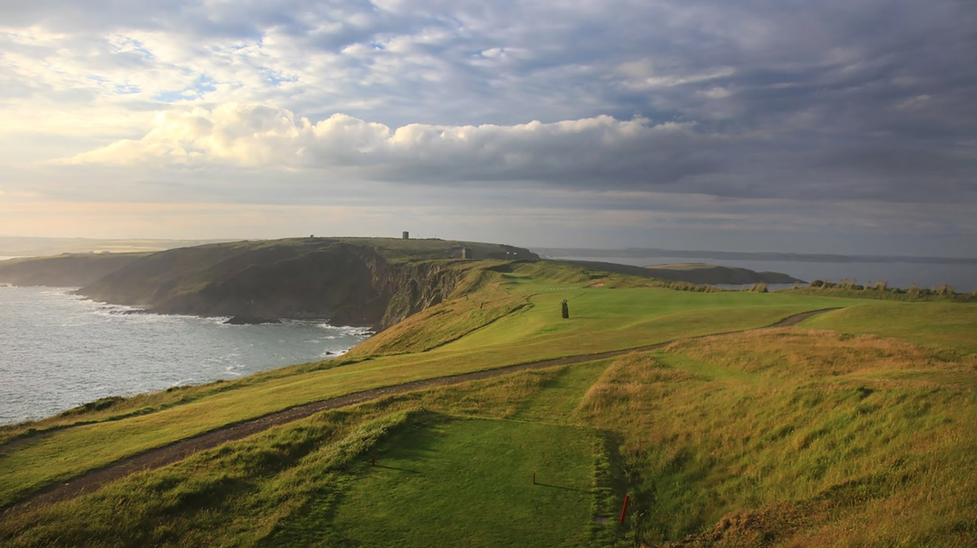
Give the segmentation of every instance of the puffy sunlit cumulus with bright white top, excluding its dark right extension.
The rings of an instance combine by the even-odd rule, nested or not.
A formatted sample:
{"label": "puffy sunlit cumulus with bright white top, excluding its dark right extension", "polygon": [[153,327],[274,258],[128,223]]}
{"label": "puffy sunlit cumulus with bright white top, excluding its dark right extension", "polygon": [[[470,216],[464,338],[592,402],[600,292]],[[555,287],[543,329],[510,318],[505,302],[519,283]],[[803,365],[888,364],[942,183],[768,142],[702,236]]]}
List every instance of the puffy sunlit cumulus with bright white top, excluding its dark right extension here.
{"label": "puffy sunlit cumulus with bright white top, excluding its dark right extension", "polygon": [[212,165],[331,169],[378,178],[553,179],[614,173],[660,160],[700,136],[693,123],[597,116],[544,124],[384,124],[333,114],[318,122],[266,105],[159,112],[142,138],[120,139],[62,164]]}

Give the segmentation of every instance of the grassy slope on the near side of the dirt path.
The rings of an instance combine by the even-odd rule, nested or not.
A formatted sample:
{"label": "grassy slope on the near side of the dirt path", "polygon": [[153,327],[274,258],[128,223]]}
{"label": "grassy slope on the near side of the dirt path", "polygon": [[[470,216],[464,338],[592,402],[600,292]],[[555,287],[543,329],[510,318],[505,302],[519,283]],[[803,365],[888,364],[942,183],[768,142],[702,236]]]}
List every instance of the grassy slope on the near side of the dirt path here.
{"label": "grassy slope on the near side of the dirt path", "polygon": [[[972,546],[975,368],[877,335],[705,337],[319,413],[7,518],[0,544]],[[576,449],[494,462],[553,440]],[[371,475],[374,453],[387,476]],[[559,527],[528,525],[531,541],[476,520],[504,521],[495,494],[535,511],[507,483],[523,465],[567,466],[576,483],[552,485],[588,491],[553,489],[570,504],[542,503]],[[450,481],[426,483],[442,470]],[[633,511],[617,528],[625,490]],[[452,494],[467,503],[446,505]]]}

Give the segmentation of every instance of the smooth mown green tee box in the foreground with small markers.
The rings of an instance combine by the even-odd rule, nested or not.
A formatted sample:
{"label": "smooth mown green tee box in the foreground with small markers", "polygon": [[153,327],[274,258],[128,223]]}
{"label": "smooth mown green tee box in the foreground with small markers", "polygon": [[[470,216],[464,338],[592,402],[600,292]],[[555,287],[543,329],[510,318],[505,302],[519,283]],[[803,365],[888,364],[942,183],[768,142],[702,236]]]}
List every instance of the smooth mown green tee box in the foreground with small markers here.
{"label": "smooth mown green tee box in the foreground with small markers", "polygon": [[579,428],[506,420],[406,431],[323,525],[343,546],[585,546],[593,447]]}

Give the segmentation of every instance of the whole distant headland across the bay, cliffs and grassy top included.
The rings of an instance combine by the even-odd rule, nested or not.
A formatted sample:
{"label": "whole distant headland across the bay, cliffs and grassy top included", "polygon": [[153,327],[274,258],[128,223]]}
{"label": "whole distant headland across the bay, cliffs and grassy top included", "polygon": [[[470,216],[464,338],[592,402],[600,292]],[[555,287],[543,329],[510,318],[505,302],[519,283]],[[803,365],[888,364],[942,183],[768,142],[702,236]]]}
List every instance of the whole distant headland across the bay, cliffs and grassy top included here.
{"label": "whole distant headland across the bay, cliffs and grassy top included", "polygon": [[327,318],[334,325],[386,329],[453,291],[468,261],[445,259],[460,257],[463,249],[476,258],[538,258],[524,248],[478,242],[299,238],[120,257],[114,268],[85,263],[84,276],[61,257],[23,261],[30,264],[13,269],[17,276],[0,263],[0,282],[48,285],[40,281],[54,278],[45,273],[61,268],[51,285],[82,286],[78,294],[163,314]]}

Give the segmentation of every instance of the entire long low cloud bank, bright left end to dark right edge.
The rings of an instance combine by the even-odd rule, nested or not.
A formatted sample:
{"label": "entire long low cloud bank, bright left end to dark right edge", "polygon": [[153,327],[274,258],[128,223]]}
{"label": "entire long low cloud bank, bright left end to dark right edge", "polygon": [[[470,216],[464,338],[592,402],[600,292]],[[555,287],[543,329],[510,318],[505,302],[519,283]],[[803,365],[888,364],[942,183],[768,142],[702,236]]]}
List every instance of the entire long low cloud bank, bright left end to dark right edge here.
{"label": "entire long low cloud bank, bright left end to dark right edge", "polygon": [[968,176],[977,170],[977,155],[965,147],[922,148],[884,137],[806,142],[640,116],[394,128],[342,113],[311,121],[270,105],[226,103],[157,112],[142,137],[117,139],[53,164],[146,173],[229,168],[255,176],[287,170],[331,180],[490,184],[498,191],[531,184],[730,198],[977,198]]}

